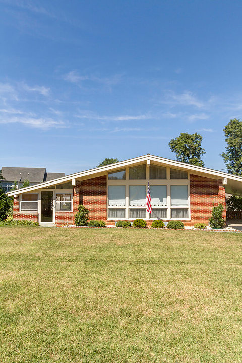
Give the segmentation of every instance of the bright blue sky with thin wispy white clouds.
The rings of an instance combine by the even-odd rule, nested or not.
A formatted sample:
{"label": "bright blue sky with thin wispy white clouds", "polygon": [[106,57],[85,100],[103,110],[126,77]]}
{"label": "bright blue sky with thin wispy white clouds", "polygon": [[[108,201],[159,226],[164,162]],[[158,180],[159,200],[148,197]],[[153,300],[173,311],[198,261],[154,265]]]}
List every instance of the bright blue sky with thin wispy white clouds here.
{"label": "bright blue sky with thin wispy white clouds", "polygon": [[0,168],[175,159],[169,141],[198,132],[224,169],[241,16],[241,0],[0,0]]}

